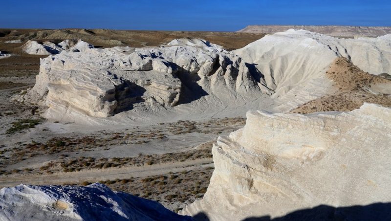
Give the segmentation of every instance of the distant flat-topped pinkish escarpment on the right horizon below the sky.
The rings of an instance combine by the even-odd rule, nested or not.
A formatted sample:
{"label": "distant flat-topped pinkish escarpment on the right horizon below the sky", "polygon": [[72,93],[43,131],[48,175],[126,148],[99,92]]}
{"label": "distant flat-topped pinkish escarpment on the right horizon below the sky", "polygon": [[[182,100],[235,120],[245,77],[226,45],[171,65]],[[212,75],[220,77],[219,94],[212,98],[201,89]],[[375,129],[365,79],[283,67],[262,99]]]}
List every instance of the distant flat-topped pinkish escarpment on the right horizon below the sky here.
{"label": "distant flat-topped pinkish escarpment on the right horizon below the sky", "polygon": [[289,29],[305,29],[312,32],[334,37],[378,37],[391,34],[391,27],[387,26],[336,26],[336,25],[248,25],[238,32],[274,34]]}

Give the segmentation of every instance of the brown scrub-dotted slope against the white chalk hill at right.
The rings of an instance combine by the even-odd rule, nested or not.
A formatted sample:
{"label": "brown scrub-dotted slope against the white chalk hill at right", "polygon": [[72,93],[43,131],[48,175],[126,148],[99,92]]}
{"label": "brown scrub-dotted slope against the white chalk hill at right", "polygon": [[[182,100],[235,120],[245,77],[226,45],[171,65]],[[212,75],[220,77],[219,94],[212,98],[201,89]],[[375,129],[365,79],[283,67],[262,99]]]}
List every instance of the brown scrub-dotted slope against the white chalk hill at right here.
{"label": "brown scrub-dotted slope against the white chalk hill at right", "polygon": [[343,57],[337,58],[326,74],[338,90],[291,112],[349,111],[360,108],[364,102],[391,107],[391,80],[366,73]]}

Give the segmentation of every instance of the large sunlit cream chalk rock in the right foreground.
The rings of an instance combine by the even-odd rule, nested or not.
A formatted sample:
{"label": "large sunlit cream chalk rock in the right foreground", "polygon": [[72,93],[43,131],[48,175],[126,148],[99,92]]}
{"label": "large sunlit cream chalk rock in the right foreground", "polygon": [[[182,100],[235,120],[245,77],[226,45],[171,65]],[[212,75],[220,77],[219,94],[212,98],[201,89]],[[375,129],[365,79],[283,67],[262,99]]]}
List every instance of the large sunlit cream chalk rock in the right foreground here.
{"label": "large sunlit cream chalk rock in the right foreground", "polygon": [[[374,104],[308,115],[249,111],[243,129],[217,139],[208,190],[181,214],[203,212],[210,220],[227,221],[274,218],[321,204],[390,202],[390,119],[390,108]],[[333,209],[318,218],[366,219],[355,212],[376,216]],[[296,219],[311,216],[317,214]]]}

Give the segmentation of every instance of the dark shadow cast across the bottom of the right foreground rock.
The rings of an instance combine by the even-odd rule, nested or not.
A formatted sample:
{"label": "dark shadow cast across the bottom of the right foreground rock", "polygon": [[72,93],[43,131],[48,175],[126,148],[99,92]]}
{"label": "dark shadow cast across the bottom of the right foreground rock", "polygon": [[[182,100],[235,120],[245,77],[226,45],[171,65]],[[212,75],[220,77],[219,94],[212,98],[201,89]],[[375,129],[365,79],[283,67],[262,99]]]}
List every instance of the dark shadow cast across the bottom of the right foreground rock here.
{"label": "dark shadow cast across the bottom of the right foreground rock", "polygon": [[[209,221],[209,217],[203,212],[193,218],[196,221]],[[243,221],[391,221],[391,203],[347,207],[319,205],[273,219],[270,216],[262,216],[249,217]]]}

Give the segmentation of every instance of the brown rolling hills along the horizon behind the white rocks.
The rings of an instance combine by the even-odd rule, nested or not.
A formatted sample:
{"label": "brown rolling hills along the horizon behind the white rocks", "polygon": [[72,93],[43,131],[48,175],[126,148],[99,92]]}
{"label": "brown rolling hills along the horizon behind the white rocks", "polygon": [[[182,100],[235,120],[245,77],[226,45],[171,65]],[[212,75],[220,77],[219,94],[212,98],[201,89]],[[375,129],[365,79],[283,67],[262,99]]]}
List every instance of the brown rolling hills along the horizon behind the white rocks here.
{"label": "brown rolling hills along the horizon behind the white rocks", "polygon": [[[3,37],[1,37],[3,35]],[[219,44],[228,50],[237,49],[262,38],[262,33],[237,32],[189,32],[189,31],[132,31],[107,29],[0,29],[0,41],[38,40],[61,42],[65,39],[82,39],[96,47],[112,46],[157,46],[177,38],[200,38]],[[16,51],[22,44],[0,43],[0,50]]]}

